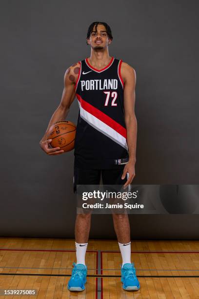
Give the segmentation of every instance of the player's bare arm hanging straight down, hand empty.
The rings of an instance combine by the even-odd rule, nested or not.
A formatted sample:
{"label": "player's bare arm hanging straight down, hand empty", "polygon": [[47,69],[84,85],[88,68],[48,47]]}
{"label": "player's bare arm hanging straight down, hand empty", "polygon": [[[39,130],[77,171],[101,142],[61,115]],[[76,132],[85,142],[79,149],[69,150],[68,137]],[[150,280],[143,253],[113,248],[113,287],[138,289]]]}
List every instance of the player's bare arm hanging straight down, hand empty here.
{"label": "player's bare arm hanging straight down, hand empty", "polygon": [[137,143],[137,119],[135,115],[135,87],[136,87],[136,72],[133,67],[126,63],[121,64],[121,76],[124,81],[124,120],[127,133],[127,146],[129,152],[129,161],[124,167],[122,179],[126,173],[129,173],[129,178],[124,184],[124,188],[131,184],[135,177],[136,163],[136,143]]}

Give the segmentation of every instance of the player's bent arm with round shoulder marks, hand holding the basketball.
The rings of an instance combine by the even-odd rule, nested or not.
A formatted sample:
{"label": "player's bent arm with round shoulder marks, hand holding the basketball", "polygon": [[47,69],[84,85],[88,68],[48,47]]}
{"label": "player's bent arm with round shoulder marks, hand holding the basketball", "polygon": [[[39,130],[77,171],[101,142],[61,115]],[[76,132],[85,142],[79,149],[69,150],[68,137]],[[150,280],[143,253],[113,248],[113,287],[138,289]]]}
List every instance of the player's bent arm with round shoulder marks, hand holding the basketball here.
{"label": "player's bent arm with round shoulder marks, hand holding the basketball", "polygon": [[69,112],[70,106],[75,99],[75,84],[78,79],[79,68],[80,64],[78,63],[73,64],[66,70],[64,75],[64,88],[60,104],[53,113],[48,127],[46,129],[46,132],[40,140],[41,149],[45,151],[48,155],[60,154],[63,152],[63,150],[60,150],[59,147],[49,148],[49,143],[51,142],[51,139],[47,139],[47,136],[49,128],[56,122],[65,119]]}

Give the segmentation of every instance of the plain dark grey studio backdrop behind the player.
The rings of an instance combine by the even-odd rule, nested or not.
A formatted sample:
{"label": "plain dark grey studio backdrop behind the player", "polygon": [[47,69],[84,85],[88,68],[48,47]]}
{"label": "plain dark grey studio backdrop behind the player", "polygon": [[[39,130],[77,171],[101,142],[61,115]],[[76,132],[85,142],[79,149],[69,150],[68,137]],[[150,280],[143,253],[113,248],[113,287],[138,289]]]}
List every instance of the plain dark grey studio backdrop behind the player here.
{"label": "plain dark grey studio backdrop behind the player", "polygon": [[[1,236],[74,237],[73,151],[47,156],[39,141],[60,103],[66,68],[90,55],[85,38],[93,21],[111,26],[110,55],[137,72],[134,183],[199,183],[198,1],[0,6]],[[75,100],[67,119],[76,123],[78,109]],[[132,238],[198,238],[198,220],[130,215]],[[90,237],[115,238],[110,215],[93,216]]]}

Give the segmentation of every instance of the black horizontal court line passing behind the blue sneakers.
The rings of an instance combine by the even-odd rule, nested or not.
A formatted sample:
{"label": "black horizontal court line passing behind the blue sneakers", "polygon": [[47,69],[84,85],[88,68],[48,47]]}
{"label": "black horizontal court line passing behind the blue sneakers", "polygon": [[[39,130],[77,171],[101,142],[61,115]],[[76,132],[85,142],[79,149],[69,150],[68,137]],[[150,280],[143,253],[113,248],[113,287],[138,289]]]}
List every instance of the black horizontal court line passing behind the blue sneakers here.
{"label": "black horizontal court line passing behind the blue sneakers", "polygon": [[[32,273],[0,273],[0,275],[18,276],[61,276],[70,277],[71,274],[32,274]],[[121,277],[120,275],[87,275],[87,277]],[[140,278],[199,278],[199,275],[137,275]]]}

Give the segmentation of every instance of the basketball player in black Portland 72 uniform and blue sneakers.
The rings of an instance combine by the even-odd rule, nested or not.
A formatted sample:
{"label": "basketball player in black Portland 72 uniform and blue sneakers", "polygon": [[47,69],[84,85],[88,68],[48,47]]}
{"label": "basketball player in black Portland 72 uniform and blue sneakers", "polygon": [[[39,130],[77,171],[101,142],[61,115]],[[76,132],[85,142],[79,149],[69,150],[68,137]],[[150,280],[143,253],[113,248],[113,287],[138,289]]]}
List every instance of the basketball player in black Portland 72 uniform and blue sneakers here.
{"label": "basketball player in black Portland 72 uniform and blue sneakers", "polygon": [[[63,152],[50,148],[48,129],[66,118],[75,97],[80,106],[75,139],[74,192],[79,185],[98,185],[100,173],[105,185],[129,186],[135,176],[137,120],[134,112],[136,73],[133,67],[109,56],[113,37],[105,22],[88,28],[91,55],[71,65],[64,75],[64,90],[40,147],[48,155]],[[75,225],[77,262],[68,282],[70,291],[85,289],[85,253],[90,231],[90,214],[78,214]],[[139,290],[134,264],[128,214],[113,214],[114,228],[122,257],[121,281],[124,290]]]}

